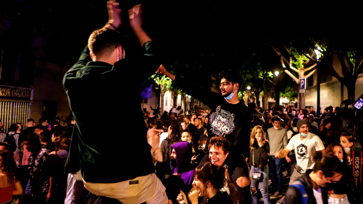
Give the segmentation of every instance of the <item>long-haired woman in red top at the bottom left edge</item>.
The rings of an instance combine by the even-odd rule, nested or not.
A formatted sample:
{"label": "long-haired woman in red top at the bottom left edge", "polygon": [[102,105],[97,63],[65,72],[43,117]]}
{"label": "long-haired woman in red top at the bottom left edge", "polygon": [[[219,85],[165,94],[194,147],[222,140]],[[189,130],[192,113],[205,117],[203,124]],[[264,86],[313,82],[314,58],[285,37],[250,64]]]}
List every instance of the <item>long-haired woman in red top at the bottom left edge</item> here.
{"label": "long-haired woman in red top at the bottom left edge", "polygon": [[23,193],[23,188],[17,176],[13,152],[9,150],[0,150],[0,178],[0,203],[10,204],[14,195]]}

